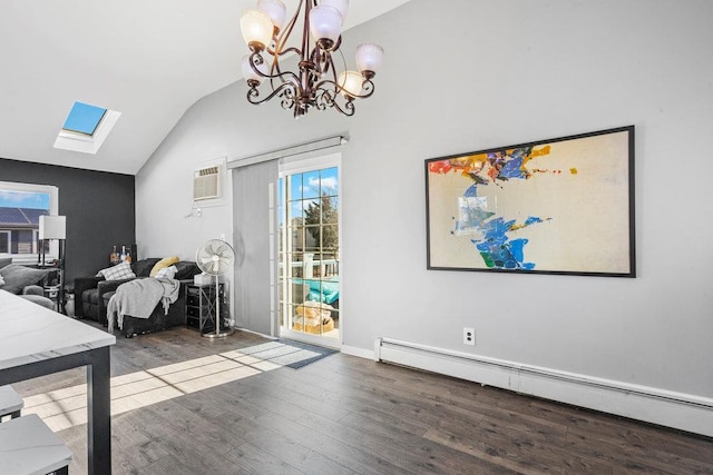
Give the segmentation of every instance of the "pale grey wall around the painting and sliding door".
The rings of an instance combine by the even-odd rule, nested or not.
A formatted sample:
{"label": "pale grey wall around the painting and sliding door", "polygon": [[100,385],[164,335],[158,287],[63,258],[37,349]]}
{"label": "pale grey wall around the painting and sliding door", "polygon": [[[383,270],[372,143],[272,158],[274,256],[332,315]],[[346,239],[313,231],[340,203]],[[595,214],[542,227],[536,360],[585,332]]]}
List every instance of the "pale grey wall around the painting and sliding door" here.
{"label": "pale grey wall around the painting and sliding door", "polygon": [[[137,176],[141,256],[231,237],[229,206],[183,218],[196,164],[341,132],[345,345],[385,336],[713,397],[713,2],[447,3],[345,34],[387,55],[351,119],[248,107],[242,81],[198,101]],[[636,279],[426,270],[424,159],[632,123]]]}

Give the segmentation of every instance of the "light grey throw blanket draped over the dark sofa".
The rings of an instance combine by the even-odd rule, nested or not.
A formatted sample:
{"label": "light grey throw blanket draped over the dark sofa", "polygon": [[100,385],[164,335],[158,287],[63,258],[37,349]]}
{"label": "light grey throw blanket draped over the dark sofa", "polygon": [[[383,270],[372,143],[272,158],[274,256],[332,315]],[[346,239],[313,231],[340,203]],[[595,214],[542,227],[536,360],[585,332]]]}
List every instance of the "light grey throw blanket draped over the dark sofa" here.
{"label": "light grey throw blanket draped over the dark sofa", "polygon": [[109,333],[114,330],[115,317],[118,319],[119,328],[124,328],[124,316],[148,318],[158,303],[164,304],[164,315],[168,314],[168,307],[178,299],[179,290],[178,280],[164,277],[135,279],[121,284],[107,305]]}

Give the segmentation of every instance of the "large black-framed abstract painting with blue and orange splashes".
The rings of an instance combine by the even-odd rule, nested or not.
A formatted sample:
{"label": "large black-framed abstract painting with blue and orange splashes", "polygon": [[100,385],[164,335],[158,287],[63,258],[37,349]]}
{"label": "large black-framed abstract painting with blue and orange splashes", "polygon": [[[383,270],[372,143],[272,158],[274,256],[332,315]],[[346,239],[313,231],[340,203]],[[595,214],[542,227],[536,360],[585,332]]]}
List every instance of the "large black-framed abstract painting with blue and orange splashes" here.
{"label": "large black-framed abstract painting with blue and orange splashes", "polygon": [[428,268],[634,277],[634,127],[426,160]]}

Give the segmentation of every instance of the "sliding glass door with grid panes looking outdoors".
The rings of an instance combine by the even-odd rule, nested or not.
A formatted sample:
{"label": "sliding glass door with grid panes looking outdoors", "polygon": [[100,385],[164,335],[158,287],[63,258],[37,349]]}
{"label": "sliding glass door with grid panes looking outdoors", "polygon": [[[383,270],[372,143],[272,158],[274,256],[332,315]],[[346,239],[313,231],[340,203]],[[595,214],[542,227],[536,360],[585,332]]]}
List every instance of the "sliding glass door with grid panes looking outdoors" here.
{"label": "sliding glass door with grid panes looking outdoors", "polygon": [[325,346],[340,338],[339,156],[281,166],[281,335]]}

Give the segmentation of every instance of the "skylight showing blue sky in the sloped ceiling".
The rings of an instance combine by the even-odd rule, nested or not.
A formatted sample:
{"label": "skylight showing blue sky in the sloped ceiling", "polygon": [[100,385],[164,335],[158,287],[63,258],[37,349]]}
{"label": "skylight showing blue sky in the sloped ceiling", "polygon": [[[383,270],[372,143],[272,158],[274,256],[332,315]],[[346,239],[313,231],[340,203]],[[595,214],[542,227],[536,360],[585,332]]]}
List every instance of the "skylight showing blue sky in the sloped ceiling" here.
{"label": "skylight showing blue sky in the sloped ceiling", "polygon": [[57,135],[55,148],[95,155],[121,112],[84,102],[75,102]]}

